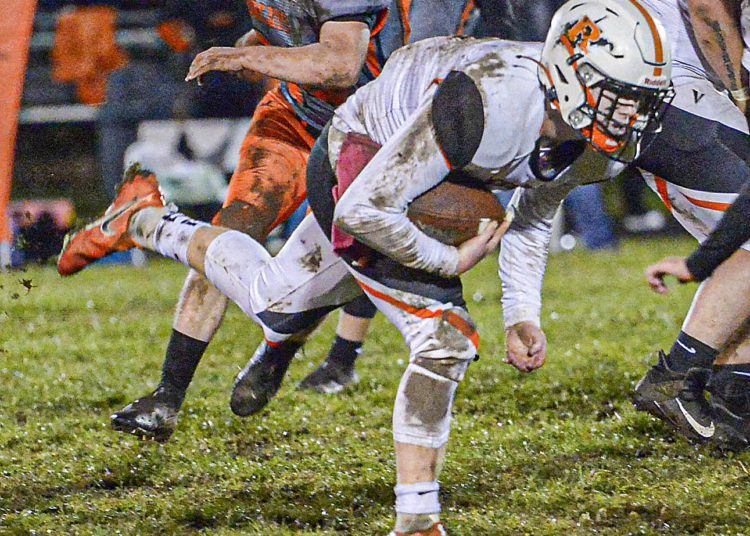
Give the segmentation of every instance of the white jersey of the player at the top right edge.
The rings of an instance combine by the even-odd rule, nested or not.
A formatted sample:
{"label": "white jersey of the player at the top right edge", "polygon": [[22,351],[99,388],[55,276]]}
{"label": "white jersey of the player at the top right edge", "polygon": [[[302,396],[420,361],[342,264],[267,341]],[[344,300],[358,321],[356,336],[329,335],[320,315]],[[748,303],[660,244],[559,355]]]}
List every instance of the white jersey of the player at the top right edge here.
{"label": "white jersey of the player at the top right edge", "polygon": [[[701,61],[685,0],[641,0],[659,17],[672,47],[672,105],[693,115],[748,132],[747,120],[713,71]],[[747,7],[744,0],[743,7]],[[743,13],[746,16],[747,10]]]}

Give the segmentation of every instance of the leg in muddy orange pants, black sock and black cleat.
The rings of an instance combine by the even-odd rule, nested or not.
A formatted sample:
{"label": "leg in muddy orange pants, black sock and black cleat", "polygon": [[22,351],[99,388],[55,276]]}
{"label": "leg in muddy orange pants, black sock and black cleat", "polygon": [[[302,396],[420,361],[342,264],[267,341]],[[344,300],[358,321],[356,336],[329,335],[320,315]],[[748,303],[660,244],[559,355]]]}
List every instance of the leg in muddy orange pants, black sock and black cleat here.
{"label": "leg in muddy orange pants, black sock and black cleat", "polygon": [[[224,208],[213,223],[263,242],[305,195],[304,169],[312,144],[283,99],[269,93],[258,105],[230,181]],[[227,299],[191,270],[175,312],[157,389],[112,416],[116,429],[166,439],[209,341],[221,325]],[[146,425],[148,424],[148,425]]]}

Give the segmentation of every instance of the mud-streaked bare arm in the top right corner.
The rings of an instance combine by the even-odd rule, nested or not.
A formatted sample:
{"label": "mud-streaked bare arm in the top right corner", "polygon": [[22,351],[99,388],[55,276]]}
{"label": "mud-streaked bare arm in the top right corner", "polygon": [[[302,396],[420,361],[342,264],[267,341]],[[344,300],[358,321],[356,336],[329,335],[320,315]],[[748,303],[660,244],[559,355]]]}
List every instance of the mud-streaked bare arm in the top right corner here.
{"label": "mud-streaked bare arm in the top right corner", "polygon": [[688,0],[687,5],[701,53],[745,112],[750,92],[747,72],[742,68],[739,1]]}

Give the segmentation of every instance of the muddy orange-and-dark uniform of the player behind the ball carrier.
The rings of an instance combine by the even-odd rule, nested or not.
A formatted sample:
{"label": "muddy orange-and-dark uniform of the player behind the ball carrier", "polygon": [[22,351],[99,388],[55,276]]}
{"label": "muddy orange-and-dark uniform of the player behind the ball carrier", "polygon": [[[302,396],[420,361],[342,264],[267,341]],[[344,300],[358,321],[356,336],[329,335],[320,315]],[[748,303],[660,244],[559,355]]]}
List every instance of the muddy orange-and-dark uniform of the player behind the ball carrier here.
{"label": "muddy orange-and-dark uniform of the player behind the ball carrier", "polygon": [[247,0],[247,7],[264,45],[316,43],[329,21],[361,21],[371,33],[367,59],[354,88],[317,90],[282,82],[258,104],[224,208],[213,223],[262,240],[304,200],[307,158],[333,110],[356,87],[379,74],[382,62],[372,39],[385,21],[388,0]]}

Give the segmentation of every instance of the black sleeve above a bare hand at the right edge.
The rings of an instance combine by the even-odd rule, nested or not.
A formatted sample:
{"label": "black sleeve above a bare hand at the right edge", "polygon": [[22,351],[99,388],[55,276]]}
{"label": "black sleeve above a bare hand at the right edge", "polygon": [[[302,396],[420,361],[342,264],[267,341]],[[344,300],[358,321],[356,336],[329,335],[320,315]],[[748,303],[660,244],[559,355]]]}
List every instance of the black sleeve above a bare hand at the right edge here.
{"label": "black sleeve above a bare hand at the right edge", "polygon": [[750,240],[750,183],[701,246],[687,259],[690,273],[698,281],[709,277],[713,271],[746,241]]}

